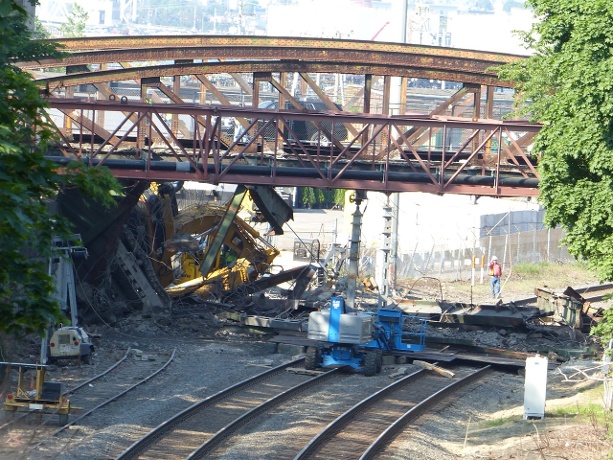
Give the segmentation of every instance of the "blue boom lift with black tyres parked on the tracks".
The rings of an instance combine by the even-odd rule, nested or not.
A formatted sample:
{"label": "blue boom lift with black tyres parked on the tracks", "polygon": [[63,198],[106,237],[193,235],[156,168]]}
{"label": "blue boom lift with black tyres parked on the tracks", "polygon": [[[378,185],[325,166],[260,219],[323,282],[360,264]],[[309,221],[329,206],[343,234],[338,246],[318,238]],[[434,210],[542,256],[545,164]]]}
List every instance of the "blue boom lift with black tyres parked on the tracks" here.
{"label": "blue boom lift with black tyres parked on the tracks", "polygon": [[393,308],[376,312],[346,311],[342,297],[332,297],[330,308],[309,315],[305,368],[349,366],[372,376],[381,371],[384,351],[423,351],[426,319]]}

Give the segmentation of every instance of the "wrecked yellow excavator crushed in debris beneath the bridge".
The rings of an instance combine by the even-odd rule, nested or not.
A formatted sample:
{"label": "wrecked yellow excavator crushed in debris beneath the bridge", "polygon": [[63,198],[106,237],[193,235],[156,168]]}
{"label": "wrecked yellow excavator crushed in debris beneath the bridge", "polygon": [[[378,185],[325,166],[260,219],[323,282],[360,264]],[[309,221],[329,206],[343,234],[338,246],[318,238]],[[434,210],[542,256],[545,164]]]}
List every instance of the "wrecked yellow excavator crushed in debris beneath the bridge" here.
{"label": "wrecked yellow excavator crushed in debris beneath the bridge", "polygon": [[[227,204],[204,202],[178,212],[173,209],[172,195],[158,192],[160,207],[157,213],[150,212],[161,219],[157,219],[157,226],[151,224],[155,219],[148,220],[150,257],[171,297],[223,295],[268,271],[279,250],[237,215],[247,193],[245,187],[239,187]],[[255,195],[253,190],[251,194]],[[279,234],[281,225],[291,217],[291,208],[284,202],[276,203],[284,213],[275,221]]]}

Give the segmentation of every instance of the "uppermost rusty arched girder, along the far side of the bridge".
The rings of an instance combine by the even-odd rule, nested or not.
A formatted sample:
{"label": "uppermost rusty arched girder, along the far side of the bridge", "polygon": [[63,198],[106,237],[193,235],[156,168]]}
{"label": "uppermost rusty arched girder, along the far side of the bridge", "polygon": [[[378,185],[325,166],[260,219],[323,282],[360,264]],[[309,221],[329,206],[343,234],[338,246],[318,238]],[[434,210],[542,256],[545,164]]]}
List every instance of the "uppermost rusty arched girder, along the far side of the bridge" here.
{"label": "uppermost rusty arched girder, along the far side of the bridge", "polygon": [[[69,53],[64,59],[42,59],[20,62],[22,68],[45,68],[63,64],[93,64],[104,62],[211,59],[303,59],[356,60],[368,56],[388,63],[422,61],[464,63],[463,66],[482,67],[517,62],[526,56],[440,46],[375,42],[346,39],[313,39],[298,37],[242,36],[124,36],[92,37],[52,40]],[[363,62],[368,59],[361,58]],[[449,66],[451,68],[451,66]]]}

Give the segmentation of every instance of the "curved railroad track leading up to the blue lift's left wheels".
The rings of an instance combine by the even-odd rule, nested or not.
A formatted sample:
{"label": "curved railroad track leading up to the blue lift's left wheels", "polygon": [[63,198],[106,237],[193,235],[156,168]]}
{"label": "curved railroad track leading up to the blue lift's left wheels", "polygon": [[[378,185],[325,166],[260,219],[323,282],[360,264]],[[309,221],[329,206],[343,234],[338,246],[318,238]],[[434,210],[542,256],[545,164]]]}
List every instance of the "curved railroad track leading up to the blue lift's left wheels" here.
{"label": "curved railroad track leading up to the blue lift's left wheels", "polygon": [[315,376],[288,372],[303,362],[303,358],[290,361],[193,404],[154,428],[116,460],[204,458],[201,456],[253,417],[338,372]]}

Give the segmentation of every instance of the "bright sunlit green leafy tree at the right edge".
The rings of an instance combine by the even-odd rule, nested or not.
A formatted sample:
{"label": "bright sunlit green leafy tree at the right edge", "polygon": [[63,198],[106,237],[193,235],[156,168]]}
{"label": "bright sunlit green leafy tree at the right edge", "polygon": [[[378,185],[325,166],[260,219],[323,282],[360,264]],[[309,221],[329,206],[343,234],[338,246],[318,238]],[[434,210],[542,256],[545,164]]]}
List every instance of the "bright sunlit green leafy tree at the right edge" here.
{"label": "bright sunlit green leafy tree at the right edge", "polygon": [[534,54],[503,67],[519,113],[543,123],[535,139],[546,224],[571,254],[613,279],[613,3],[528,0],[538,18],[522,35]]}

